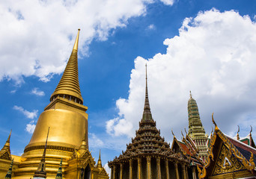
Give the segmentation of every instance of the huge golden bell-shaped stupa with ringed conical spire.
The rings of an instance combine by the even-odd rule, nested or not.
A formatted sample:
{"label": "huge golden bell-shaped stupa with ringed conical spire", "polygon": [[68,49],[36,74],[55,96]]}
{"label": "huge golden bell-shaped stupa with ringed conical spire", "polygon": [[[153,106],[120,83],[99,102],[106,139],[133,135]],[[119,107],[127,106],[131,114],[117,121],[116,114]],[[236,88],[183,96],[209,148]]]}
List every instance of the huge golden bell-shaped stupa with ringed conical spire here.
{"label": "huge golden bell-shaped stupa with ringed conical spire", "polygon": [[[42,160],[48,128],[45,155],[47,178],[56,178],[61,160],[62,178],[109,178],[105,169],[95,166],[94,158],[88,151],[88,114],[85,113],[88,107],[83,105],[78,76],[79,31],[61,81],[52,93],[50,103],[40,114],[24,154],[14,157],[13,178],[29,179],[34,176]],[[4,166],[2,163],[0,157],[0,168]],[[10,166],[10,161],[6,166]],[[0,170],[0,177],[3,172]]]}

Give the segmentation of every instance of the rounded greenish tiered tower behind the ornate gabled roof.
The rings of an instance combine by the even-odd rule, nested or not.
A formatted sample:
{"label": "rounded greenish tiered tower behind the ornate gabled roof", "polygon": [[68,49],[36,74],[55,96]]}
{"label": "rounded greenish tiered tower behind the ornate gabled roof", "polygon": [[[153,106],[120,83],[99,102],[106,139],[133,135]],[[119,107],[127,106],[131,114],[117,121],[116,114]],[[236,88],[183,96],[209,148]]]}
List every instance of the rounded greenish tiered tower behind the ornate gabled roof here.
{"label": "rounded greenish tiered tower behind the ornate gabled roof", "polygon": [[205,160],[207,156],[207,136],[205,136],[204,127],[202,125],[199,112],[198,104],[190,91],[190,98],[188,101],[188,113],[189,113],[189,136],[195,142],[195,146],[198,148],[199,156]]}

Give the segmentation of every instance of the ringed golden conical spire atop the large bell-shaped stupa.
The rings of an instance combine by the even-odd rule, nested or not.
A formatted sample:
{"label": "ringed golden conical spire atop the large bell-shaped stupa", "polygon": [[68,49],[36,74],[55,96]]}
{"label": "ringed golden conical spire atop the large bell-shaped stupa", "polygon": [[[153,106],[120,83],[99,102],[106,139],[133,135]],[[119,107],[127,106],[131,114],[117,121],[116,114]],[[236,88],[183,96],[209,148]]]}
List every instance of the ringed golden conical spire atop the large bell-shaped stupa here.
{"label": "ringed golden conical spire atop the large bell-shaped stupa", "polygon": [[76,36],[76,42],[73,46],[70,59],[67,62],[66,69],[61,77],[61,81],[52,93],[50,101],[52,101],[57,96],[61,98],[67,98],[69,100],[75,101],[79,104],[83,104],[82,95],[79,87],[79,76],[78,76],[78,62],[77,62],[77,51],[79,44],[79,32],[78,30]]}

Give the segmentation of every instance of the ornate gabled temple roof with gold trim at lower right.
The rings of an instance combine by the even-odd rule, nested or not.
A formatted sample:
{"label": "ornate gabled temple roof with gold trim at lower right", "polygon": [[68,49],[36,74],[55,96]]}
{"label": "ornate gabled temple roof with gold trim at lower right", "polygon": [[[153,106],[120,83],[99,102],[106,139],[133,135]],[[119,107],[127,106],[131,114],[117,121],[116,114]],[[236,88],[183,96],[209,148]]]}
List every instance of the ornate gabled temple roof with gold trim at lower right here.
{"label": "ornate gabled temple roof with gold trim at lower right", "polygon": [[[222,133],[222,131],[217,127],[214,119],[213,124],[215,125],[215,131],[210,139],[210,147],[204,168],[202,170],[198,169],[199,178],[207,178],[211,175],[218,175],[216,168],[213,166],[216,166],[217,164],[219,165],[219,163],[226,163],[224,160],[232,160],[232,163],[236,162],[237,160],[240,162],[240,166],[236,166],[238,168],[232,168],[233,172],[240,172],[241,170],[246,169],[249,173],[255,173],[256,149],[250,145],[246,145],[245,143],[240,142],[237,139],[232,138],[231,136],[228,136],[227,134]],[[225,152],[225,150],[225,157],[223,157],[223,154],[221,153]],[[228,167],[230,168],[229,170]],[[234,166],[228,167],[223,168],[223,171],[225,171],[222,172],[223,175],[227,172],[230,172],[231,167]]]}

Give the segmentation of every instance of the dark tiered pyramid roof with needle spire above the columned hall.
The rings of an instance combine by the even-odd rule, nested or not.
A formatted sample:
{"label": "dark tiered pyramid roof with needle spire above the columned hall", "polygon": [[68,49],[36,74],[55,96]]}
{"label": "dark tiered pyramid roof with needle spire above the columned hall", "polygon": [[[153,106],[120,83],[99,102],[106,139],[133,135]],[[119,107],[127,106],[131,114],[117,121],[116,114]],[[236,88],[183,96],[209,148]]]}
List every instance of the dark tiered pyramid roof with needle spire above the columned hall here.
{"label": "dark tiered pyramid roof with needle spire above the columned hall", "polygon": [[127,150],[122,151],[119,157],[115,157],[112,162],[122,162],[136,156],[161,156],[166,158],[175,158],[186,161],[179,154],[175,154],[165,139],[160,136],[160,131],[156,128],[156,122],[153,120],[147,91],[147,65],[146,65],[146,87],[144,111],[139,122],[138,131],[135,131],[135,138],[127,145]]}

